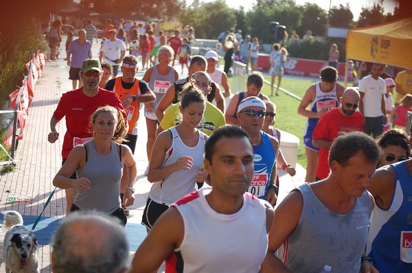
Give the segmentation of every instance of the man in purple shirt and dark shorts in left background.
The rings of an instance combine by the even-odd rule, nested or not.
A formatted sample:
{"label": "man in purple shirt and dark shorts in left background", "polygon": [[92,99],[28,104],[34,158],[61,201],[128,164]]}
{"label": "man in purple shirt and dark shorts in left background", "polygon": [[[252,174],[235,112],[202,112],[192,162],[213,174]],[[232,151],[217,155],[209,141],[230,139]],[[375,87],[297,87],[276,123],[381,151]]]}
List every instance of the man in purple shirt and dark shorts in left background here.
{"label": "man in purple shirt and dark shorts in left background", "polygon": [[67,65],[69,69],[69,80],[73,89],[83,86],[80,81],[80,69],[84,60],[91,59],[91,43],[86,40],[86,30],[79,30],[79,38],[73,40],[67,49]]}

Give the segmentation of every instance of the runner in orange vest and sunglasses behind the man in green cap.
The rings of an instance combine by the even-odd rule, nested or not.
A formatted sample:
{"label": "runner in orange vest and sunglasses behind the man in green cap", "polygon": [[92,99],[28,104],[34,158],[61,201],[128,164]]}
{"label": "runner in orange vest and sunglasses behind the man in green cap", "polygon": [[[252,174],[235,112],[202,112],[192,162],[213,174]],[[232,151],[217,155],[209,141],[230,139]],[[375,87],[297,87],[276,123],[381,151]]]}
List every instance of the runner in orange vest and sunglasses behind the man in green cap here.
{"label": "runner in orange vest and sunglasses behind the man in green cap", "polygon": [[[132,154],[135,154],[137,143],[140,105],[155,101],[155,94],[150,90],[148,84],[144,80],[137,80],[135,78],[137,63],[138,60],[135,56],[129,55],[124,57],[122,67],[120,67],[122,76],[109,80],[104,87],[106,90],[115,92],[122,100],[129,124],[125,137],[126,141],[122,142],[122,144],[127,145]],[[120,198],[122,201],[127,189],[129,175],[128,170],[124,168],[120,187]],[[124,207],[124,210],[126,215],[128,215],[128,209]]]}

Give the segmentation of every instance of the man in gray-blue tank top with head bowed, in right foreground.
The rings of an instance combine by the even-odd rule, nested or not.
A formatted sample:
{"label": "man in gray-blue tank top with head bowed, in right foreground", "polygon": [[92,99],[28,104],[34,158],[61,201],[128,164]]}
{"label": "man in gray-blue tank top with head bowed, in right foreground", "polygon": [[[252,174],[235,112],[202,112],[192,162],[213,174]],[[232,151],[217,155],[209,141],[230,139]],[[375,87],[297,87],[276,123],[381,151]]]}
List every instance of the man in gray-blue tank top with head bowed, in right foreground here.
{"label": "man in gray-blue tank top with head bowed, in right foreground", "polygon": [[328,178],[301,185],[275,209],[264,272],[321,272],[325,265],[332,272],[378,272],[365,246],[374,206],[366,189],[379,158],[378,145],[363,132],[336,138]]}

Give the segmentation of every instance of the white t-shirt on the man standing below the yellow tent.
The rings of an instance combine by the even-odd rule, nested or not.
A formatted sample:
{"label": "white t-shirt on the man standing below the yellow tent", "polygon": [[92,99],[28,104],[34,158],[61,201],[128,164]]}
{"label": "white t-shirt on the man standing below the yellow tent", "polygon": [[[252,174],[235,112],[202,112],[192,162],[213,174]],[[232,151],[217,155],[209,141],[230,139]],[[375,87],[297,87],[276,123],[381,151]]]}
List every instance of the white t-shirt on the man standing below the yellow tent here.
{"label": "white t-shirt on the man standing below the yellow tent", "polygon": [[382,110],[382,95],[386,94],[385,80],[378,78],[374,80],[371,75],[367,75],[359,82],[359,92],[365,93],[363,97],[363,115],[365,117],[380,117]]}

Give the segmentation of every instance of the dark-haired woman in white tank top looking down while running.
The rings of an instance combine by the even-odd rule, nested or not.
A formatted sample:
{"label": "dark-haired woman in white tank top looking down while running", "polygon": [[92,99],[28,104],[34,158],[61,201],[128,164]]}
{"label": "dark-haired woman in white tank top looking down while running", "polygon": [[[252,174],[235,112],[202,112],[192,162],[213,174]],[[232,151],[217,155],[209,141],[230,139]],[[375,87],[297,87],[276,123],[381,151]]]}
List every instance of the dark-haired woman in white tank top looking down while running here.
{"label": "dark-haired woman in white tank top looking down while running", "polygon": [[[197,129],[205,105],[205,95],[194,81],[185,84],[180,106],[181,123],[161,132],[153,145],[148,171],[148,180],[153,185],[142,221],[148,228],[170,204],[196,190],[196,182],[204,182],[207,178],[203,167],[207,135]],[[155,208],[159,206],[160,209]]]}

